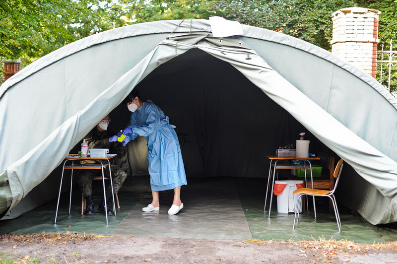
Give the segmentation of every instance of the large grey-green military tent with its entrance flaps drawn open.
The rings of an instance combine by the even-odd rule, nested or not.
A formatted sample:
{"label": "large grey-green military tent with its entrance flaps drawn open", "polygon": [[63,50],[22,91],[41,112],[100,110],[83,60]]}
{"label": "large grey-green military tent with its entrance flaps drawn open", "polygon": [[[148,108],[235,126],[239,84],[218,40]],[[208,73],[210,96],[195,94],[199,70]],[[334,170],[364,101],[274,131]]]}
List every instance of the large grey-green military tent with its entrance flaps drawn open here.
{"label": "large grey-green military tent with its entrance flaps drawn open", "polygon": [[[44,56],[0,87],[0,212],[58,193],[64,157],[106,114],[128,123],[134,87],[175,125],[189,177],[267,177],[265,154],[308,132],[349,165],[339,201],[372,224],[397,220],[397,102],[319,47],[241,25],[157,21],[102,32]],[[137,142],[136,145],[144,143]],[[133,173],[144,154],[129,147]],[[267,167],[266,167],[267,166]]]}

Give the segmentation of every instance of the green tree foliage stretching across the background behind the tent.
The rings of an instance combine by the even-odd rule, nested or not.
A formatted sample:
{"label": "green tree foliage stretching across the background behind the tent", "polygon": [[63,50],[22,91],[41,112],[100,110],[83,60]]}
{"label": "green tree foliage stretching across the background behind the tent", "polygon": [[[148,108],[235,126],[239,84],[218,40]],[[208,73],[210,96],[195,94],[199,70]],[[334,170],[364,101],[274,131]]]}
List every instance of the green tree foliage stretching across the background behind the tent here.
{"label": "green tree foliage stretching across the background behind the tent", "polygon": [[331,14],[354,6],[380,10],[380,45],[389,47],[391,38],[397,42],[397,0],[0,0],[0,61],[20,60],[23,67],[68,43],[108,29],[212,15],[331,50]]}

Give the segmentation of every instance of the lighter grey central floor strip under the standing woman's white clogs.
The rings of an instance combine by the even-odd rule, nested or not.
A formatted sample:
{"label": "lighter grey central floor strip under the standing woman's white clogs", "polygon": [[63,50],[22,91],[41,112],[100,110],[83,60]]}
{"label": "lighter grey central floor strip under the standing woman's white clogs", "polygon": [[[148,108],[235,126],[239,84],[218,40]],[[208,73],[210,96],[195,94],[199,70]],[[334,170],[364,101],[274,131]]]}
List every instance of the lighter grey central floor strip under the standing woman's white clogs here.
{"label": "lighter grey central floor strip under the standing woman's white clogs", "polygon": [[184,208],[178,214],[168,215],[173,190],[160,192],[159,211],[143,212],[141,208],[151,202],[152,196],[148,193],[111,234],[162,238],[251,238],[233,179],[195,179],[181,190]]}

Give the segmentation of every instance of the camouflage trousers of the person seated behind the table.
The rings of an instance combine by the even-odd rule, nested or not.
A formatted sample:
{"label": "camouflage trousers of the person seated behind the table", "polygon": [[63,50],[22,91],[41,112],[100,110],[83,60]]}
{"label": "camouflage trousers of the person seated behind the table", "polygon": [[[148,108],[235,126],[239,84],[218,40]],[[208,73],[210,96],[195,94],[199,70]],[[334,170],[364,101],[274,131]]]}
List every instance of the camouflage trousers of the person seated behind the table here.
{"label": "camouflage trousers of the person seated behind the table", "polygon": [[[110,169],[112,171],[113,192],[117,194],[127,178],[127,173],[116,165],[111,165]],[[106,178],[109,178],[109,168],[104,169],[104,174]],[[77,182],[80,186],[81,191],[83,192],[84,197],[92,196],[92,179],[96,176],[102,177],[102,171],[79,170]],[[106,193],[112,193],[112,186],[110,185],[110,181],[106,187]]]}

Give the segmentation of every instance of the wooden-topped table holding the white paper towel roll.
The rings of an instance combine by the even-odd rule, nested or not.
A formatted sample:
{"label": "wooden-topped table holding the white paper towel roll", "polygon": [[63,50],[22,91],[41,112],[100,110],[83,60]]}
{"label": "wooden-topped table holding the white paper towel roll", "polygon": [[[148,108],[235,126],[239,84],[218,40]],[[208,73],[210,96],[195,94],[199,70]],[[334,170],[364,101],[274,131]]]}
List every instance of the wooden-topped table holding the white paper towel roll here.
{"label": "wooden-topped table holding the white paper towel roll", "polygon": [[[310,160],[320,160],[319,157],[314,157],[314,156],[308,156],[308,157],[296,157],[296,156],[275,156],[275,155],[265,155],[266,158],[270,160],[270,166],[269,166],[269,175],[267,177],[267,188],[266,188],[266,196],[265,196],[265,207],[264,211],[266,210],[266,202],[267,202],[267,192],[269,190],[269,182],[270,182],[270,177],[271,177],[271,169],[273,168],[273,177],[271,180],[271,193],[270,193],[270,204],[269,204],[269,216],[270,218],[270,210],[271,210],[271,202],[273,200],[273,188],[274,188],[274,178],[275,178],[275,172],[277,169],[304,169],[305,171],[305,187],[307,188],[307,177],[306,177],[306,169],[310,169],[310,177],[311,177],[311,183],[312,183],[312,189],[313,187],[313,174],[312,174],[312,164],[310,163]],[[302,160],[304,161],[304,164],[279,164],[280,161],[291,161],[291,160]],[[273,164],[274,161],[274,164]],[[313,197],[313,207],[314,207],[314,214],[315,217],[316,215],[316,204],[314,201]],[[309,208],[309,207],[308,207]]]}

